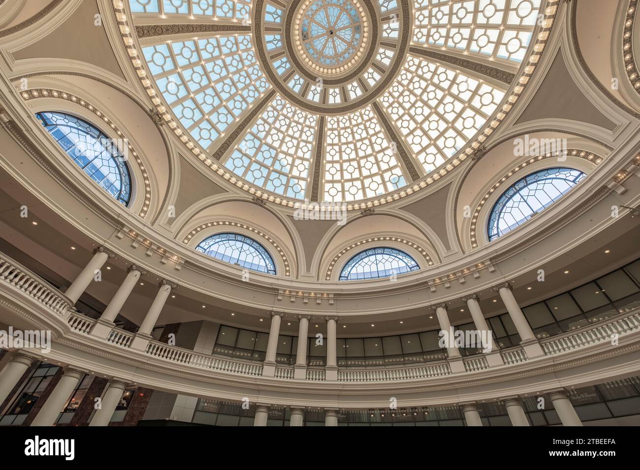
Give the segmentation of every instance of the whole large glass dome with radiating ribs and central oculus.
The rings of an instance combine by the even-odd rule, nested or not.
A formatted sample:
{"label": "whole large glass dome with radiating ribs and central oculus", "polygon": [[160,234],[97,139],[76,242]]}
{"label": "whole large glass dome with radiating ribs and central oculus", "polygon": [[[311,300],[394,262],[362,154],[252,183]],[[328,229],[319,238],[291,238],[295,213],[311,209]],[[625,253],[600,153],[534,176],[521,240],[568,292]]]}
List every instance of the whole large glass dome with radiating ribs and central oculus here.
{"label": "whole large glass dome with radiating ribs and central oculus", "polygon": [[[511,84],[486,70],[513,79],[541,1],[129,7],[161,109],[202,161],[258,196],[353,203],[424,187],[479,146]],[[195,35],[140,38],[189,21]]]}

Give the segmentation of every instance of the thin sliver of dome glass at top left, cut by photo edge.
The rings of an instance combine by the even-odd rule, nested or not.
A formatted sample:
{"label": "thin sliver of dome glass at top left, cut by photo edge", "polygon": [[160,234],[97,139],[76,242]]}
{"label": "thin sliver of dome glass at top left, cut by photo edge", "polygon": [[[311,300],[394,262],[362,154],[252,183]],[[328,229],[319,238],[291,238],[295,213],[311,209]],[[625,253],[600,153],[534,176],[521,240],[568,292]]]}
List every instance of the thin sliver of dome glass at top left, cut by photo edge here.
{"label": "thin sliver of dome glass at top left, cut by photo edge", "polygon": [[248,19],[248,0],[129,0],[133,13],[205,16],[207,19]]}

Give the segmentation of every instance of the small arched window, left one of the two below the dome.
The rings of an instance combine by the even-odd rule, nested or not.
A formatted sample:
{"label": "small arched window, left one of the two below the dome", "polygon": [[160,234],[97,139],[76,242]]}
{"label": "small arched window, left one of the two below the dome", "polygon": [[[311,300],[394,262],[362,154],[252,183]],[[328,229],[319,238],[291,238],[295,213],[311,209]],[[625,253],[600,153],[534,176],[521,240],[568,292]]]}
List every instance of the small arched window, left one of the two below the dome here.
{"label": "small arched window, left one of the two below the dome", "polygon": [[216,233],[202,240],[196,250],[212,258],[267,274],[276,274],[273,258],[257,241],[237,233]]}

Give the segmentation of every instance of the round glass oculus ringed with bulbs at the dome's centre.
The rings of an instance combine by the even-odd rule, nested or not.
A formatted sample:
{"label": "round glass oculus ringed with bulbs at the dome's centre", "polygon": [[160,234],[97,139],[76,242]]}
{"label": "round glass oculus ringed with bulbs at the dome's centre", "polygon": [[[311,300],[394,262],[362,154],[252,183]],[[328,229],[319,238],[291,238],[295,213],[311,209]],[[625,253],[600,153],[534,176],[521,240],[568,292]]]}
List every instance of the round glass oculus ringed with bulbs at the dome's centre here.
{"label": "round glass oculus ringed with bulbs at the dome's centre", "polygon": [[319,75],[347,72],[365,56],[369,20],[356,0],[304,1],[294,25],[298,56]]}

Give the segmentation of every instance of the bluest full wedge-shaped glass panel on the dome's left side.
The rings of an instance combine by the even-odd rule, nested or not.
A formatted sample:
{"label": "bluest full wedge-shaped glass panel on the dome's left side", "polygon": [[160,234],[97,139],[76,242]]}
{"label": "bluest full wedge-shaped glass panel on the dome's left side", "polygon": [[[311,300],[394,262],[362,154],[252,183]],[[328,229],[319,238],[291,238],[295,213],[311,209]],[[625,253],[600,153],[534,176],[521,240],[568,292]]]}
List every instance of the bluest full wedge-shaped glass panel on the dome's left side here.
{"label": "bluest full wedge-shaped glass panel on the dome's left side", "polygon": [[173,114],[203,148],[268,88],[251,36],[218,36],[143,48]]}

